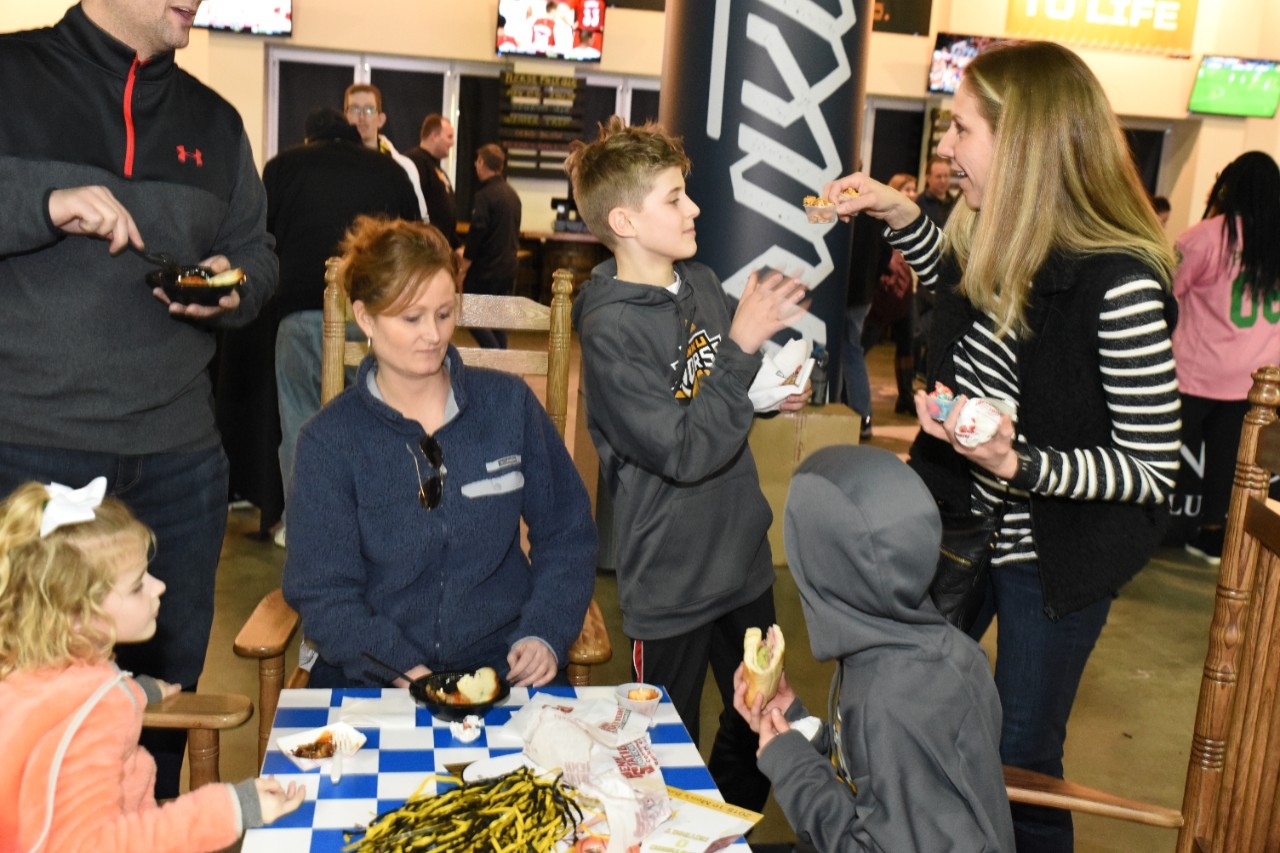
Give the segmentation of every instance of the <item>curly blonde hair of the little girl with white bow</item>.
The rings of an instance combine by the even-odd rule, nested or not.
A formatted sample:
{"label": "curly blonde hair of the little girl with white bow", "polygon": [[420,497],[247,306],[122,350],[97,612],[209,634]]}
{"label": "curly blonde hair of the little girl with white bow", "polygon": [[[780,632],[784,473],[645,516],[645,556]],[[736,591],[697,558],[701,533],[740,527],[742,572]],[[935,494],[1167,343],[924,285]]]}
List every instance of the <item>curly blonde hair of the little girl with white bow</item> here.
{"label": "curly blonde hair of the little girl with white bow", "polygon": [[15,670],[110,658],[115,646],[102,602],[122,558],[155,544],[114,498],[92,521],[40,535],[49,489],[26,483],[0,503],[0,679]]}

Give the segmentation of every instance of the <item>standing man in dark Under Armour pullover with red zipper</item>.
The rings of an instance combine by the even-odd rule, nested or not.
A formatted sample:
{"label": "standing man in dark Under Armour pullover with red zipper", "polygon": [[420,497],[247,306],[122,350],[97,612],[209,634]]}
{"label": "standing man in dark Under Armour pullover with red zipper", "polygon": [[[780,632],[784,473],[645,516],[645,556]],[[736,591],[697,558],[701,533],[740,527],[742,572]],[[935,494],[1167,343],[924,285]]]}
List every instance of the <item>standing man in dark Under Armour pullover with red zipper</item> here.
{"label": "standing man in dark Under Armour pullover with red zipper", "polygon": [[[266,196],[236,109],[174,64],[198,0],[83,0],[0,36],[0,493],[87,483],[156,534],[168,590],[123,669],[195,689],[227,526],[214,424],[215,332],[275,288]],[[127,247],[247,274],[212,307],[168,305]],[[178,793],[184,735],[147,733],[156,794]]]}

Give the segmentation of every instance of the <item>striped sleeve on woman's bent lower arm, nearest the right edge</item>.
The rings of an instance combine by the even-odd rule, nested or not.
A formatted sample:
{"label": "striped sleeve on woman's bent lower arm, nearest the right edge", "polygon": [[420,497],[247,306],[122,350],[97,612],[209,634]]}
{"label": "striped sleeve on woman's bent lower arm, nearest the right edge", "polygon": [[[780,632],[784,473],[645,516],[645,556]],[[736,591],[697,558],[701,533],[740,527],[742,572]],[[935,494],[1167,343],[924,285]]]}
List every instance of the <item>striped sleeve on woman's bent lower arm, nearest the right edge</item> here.
{"label": "striped sleeve on woman's bent lower arm, nearest the right edge", "polygon": [[1143,279],[1107,291],[1098,318],[1098,365],[1111,442],[1057,451],[1029,447],[1032,492],[1076,501],[1160,503],[1172,491],[1181,450],[1178,377],[1164,289]]}

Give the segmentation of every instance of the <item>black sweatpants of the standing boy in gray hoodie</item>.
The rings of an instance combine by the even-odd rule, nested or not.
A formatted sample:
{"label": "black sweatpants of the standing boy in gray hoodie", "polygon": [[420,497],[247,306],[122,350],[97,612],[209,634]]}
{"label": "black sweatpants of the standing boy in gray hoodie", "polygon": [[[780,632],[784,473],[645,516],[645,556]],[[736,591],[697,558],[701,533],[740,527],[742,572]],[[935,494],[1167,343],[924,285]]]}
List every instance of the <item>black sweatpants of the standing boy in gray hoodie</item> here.
{"label": "black sweatpants of the standing boy in gray hoodie", "polygon": [[726,802],[754,812],[764,809],[769,798],[769,779],[755,766],[759,735],[733,710],[733,670],[742,662],[746,629],[755,626],[765,630],[774,621],[773,589],[769,588],[755,601],[685,634],[631,640],[634,678],[667,689],[695,744],[700,734],[703,683],[710,665],[722,710],[719,731],[716,733],[707,766]]}

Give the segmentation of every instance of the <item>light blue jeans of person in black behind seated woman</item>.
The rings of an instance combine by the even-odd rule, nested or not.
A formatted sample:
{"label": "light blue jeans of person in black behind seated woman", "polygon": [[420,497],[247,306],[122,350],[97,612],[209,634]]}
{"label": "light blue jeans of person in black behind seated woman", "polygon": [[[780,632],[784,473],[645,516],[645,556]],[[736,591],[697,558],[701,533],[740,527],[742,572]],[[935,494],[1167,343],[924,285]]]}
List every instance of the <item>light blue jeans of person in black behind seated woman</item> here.
{"label": "light blue jeans of person in black behind seated woman", "polygon": [[298,430],[320,411],[324,311],[294,311],[275,330],[275,393],[280,406],[280,482],[289,491]]}

